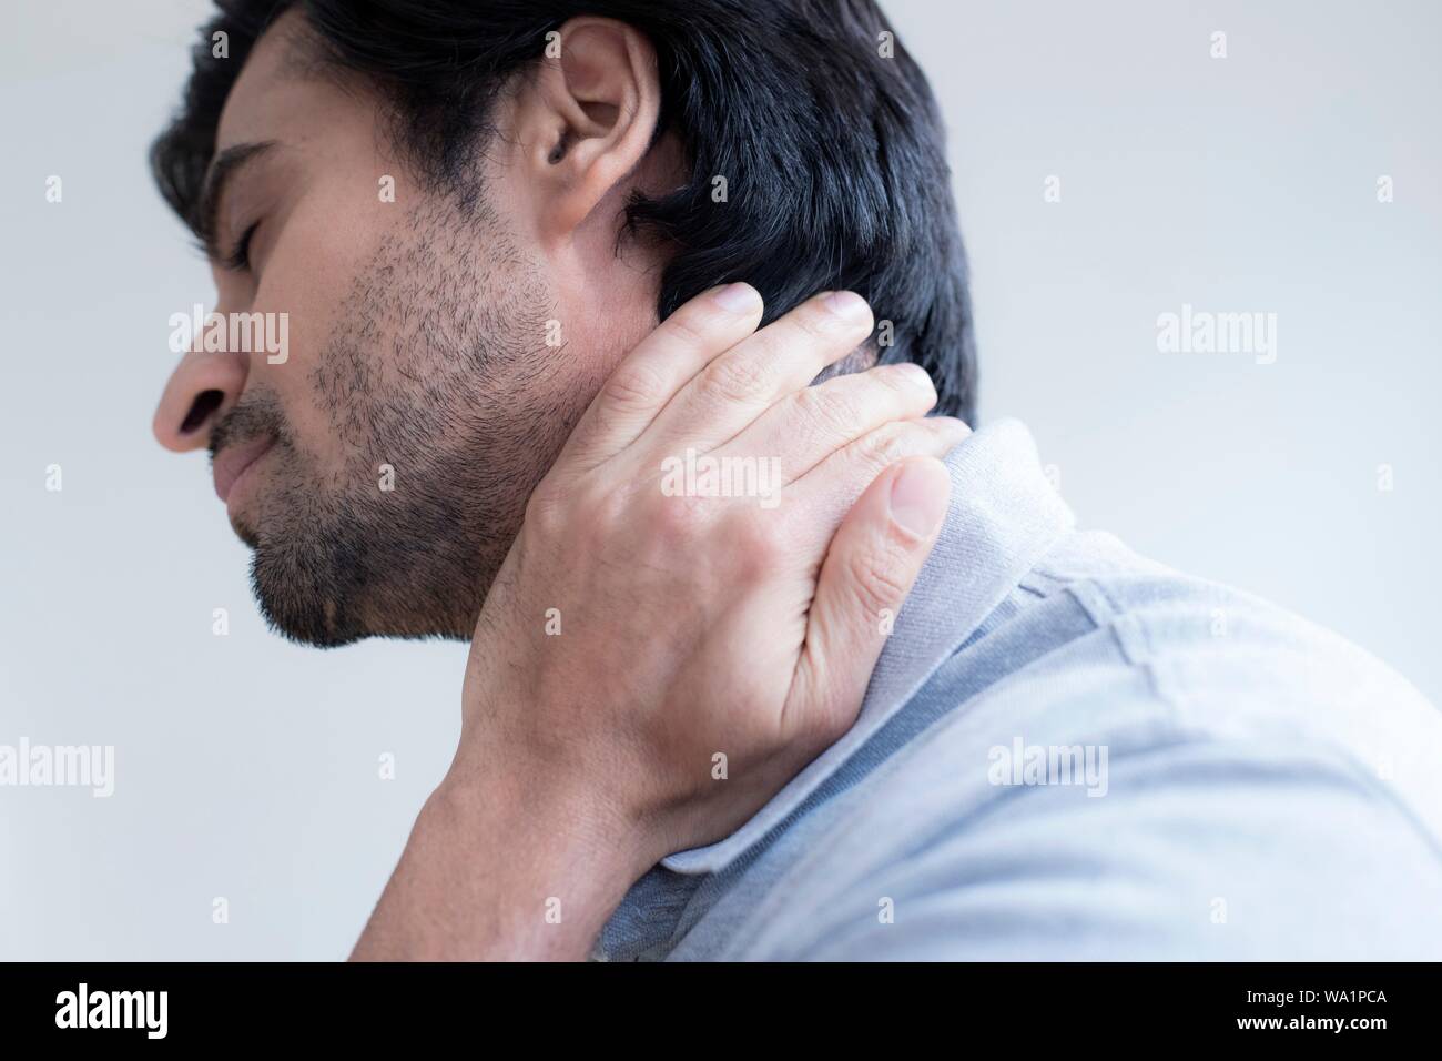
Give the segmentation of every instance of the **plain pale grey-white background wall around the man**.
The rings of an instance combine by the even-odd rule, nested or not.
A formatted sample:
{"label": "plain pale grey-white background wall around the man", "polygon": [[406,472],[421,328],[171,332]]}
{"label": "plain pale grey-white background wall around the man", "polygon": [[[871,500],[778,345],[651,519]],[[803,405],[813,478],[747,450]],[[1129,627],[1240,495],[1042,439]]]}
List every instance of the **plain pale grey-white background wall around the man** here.
{"label": "plain pale grey-white background wall around the man", "polygon": [[[950,128],[982,419],[1084,524],[1442,699],[1438,4],[887,9]],[[457,733],[464,647],[270,635],[203,455],[150,437],[169,316],[212,297],[144,162],[206,12],[4,7],[0,743],[117,749],[110,800],[0,788],[6,959],[342,957]],[[1276,313],[1276,364],[1159,354],[1182,303]]]}

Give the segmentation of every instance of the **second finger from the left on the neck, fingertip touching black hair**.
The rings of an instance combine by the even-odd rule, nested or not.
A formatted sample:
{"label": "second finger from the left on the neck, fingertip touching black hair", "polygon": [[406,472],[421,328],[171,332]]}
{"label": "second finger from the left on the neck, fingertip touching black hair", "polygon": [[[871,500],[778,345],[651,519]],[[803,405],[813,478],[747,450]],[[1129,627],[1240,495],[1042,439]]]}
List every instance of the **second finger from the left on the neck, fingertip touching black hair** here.
{"label": "second finger from the left on the neck, fingertip touching black hair", "polygon": [[646,430],[643,445],[649,452],[671,452],[682,442],[701,452],[722,445],[865,342],[871,325],[871,307],[855,292],[808,299],[696,372]]}

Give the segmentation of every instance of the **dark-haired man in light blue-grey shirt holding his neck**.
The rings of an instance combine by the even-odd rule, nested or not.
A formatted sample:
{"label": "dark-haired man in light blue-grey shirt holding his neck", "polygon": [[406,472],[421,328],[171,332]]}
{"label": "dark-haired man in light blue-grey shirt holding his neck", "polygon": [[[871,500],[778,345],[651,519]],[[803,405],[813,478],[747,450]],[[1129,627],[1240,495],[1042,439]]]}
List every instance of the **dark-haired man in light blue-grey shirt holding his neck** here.
{"label": "dark-haired man in light blue-grey shirt holding his neck", "polygon": [[156,172],[290,349],[187,355],[156,433],[283,634],[472,641],[356,957],[1442,953],[1436,712],[949,416],[872,6],[221,10]]}

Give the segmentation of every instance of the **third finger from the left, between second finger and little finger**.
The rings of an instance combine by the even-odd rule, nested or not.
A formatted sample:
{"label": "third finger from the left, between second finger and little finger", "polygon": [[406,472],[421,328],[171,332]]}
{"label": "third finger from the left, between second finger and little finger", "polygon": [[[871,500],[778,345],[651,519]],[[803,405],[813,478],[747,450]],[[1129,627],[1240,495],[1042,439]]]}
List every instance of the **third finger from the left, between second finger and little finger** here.
{"label": "third finger from the left, between second finger and little finger", "polygon": [[924,368],[877,365],[782,398],[712,456],[774,458],[784,486],[842,446],[893,420],[921,417],[934,404],[936,385]]}

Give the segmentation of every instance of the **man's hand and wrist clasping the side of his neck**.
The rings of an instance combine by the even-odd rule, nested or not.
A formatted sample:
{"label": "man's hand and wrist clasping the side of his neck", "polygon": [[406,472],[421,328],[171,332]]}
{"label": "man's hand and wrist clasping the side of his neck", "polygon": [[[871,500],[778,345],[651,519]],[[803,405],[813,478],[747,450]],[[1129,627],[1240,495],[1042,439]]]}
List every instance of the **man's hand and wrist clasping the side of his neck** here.
{"label": "man's hand and wrist clasping the side of his neck", "polygon": [[[968,429],[923,419],[926,372],[808,385],[871,332],[851,293],[760,318],[746,284],[708,292],[620,364],[482,608],[428,807],[435,836],[493,844],[492,904],[531,889],[529,922],[479,933],[508,954],[580,956],[650,865],[738,827],[845,732],[940,528],[937,458]],[[570,899],[570,931],[547,934],[544,898]]]}

